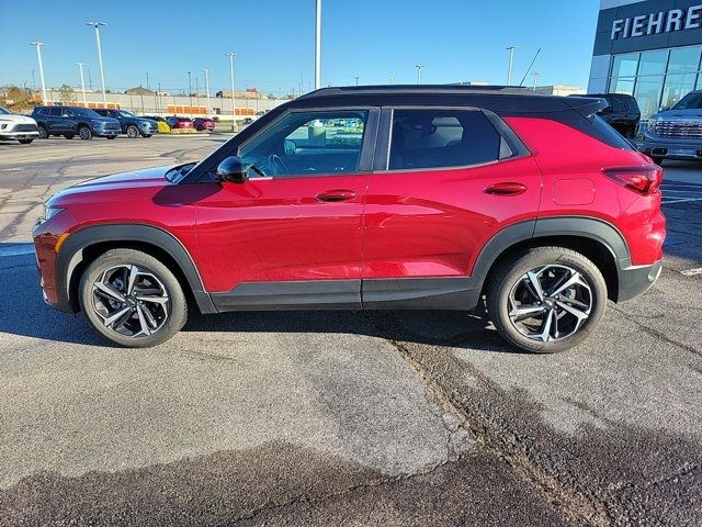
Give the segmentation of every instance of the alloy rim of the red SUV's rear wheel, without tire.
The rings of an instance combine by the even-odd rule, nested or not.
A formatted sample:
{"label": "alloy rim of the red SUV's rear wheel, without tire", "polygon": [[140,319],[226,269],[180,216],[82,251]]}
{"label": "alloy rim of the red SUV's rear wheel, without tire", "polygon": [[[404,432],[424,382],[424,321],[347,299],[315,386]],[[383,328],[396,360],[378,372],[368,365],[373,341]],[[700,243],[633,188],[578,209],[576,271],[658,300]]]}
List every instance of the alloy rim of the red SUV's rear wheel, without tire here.
{"label": "alloy rim of the red SUV's rear wheel, without tire", "polygon": [[508,296],[509,319],[522,335],[551,343],[577,333],[592,311],[592,289],[582,273],[548,265],[524,273]]}

